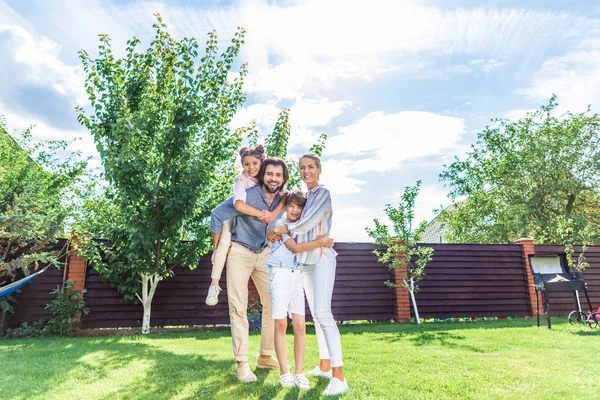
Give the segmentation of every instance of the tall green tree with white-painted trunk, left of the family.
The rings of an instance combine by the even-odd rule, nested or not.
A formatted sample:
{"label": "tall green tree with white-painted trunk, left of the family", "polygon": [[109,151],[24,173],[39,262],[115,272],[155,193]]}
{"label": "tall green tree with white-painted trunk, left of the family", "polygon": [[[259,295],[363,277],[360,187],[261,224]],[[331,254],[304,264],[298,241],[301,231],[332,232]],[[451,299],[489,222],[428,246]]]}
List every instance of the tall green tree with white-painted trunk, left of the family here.
{"label": "tall green tree with white-painted trunk, left of the family", "polygon": [[137,275],[143,333],[150,329],[158,283],[175,265],[194,268],[208,251],[206,221],[222,187],[219,168],[241,143],[228,125],[245,100],[246,66],[231,73],[243,29],[220,54],[217,34],[210,32],[199,55],[194,38],[175,40],[156,17],[145,51],[138,51],[134,37],[117,58],[110,38],[100,35],[96,59],[80,52],[93,110],[88,116],[79,108],[78,119],[94,137],[117,209],[105,229],[113,245],[91,261],[109,280],[127,271]]}

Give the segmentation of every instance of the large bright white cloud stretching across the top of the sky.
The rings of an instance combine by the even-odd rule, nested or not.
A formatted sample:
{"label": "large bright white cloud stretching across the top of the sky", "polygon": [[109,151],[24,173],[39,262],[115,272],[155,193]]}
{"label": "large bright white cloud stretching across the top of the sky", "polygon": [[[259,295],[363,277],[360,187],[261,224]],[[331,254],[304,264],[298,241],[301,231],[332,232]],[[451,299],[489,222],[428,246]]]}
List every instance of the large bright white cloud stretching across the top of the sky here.
{"label": "large bright white cloud stretching across the top of the sky", "polygon": [[[248,30],[248,90],[277,98],[314,96],[336,79],[430,75],[439,55],[485,54],[473,65],[490,73],[505,59],[589,31],[590,20],[523,9],[442,11],[412,1],[311,1],[288,7],[251,2],[232,10]],[[556,26],[568,26],[560,32]],[[501,34],[499,34],[501,33]],[[270,65],[269,55],[279,62]],[[478,64],[478,65],[476,65]],[[443,71],[447,72],[446,70]],[[450,71],[452,72],[452,71]],[[310,93],[309,93],[310,92]]]}

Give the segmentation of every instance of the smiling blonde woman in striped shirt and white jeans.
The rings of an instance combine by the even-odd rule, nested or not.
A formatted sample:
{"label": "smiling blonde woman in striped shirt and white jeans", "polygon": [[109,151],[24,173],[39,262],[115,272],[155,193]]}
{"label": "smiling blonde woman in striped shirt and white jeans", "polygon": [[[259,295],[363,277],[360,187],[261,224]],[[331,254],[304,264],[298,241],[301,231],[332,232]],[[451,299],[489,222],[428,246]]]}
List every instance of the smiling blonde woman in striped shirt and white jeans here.
{"label": "smiling blonde woman in striped shirt and white jeans", "polygon": [[[331,229],[333,210],[329,191],[319,185],[321,159],[316,154],[304,154],[299,161],[300,176],[308,189],[302,216],[287,227],[269,230],[269,239],[289,233],[297,243],[307,243]],[[331,313],[331,296],[335,282],[336,252],[320,247],[297,255],[297,262],[305,268],[304,291],[315,322],[319,343],[320,365],[308,375],[332,377],[323,392],[337,396],[350,390],[342,370],[342,344],[340,332]]]}

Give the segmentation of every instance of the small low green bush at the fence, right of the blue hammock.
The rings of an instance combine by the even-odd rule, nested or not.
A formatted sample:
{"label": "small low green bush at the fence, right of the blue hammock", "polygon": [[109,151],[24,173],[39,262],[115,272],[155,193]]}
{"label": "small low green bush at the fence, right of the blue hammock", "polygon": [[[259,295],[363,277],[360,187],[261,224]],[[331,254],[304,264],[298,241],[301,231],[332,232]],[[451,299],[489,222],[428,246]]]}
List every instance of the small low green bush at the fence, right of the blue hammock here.
{"label": "small low green bush at the fence, right of the blue hammock", "polygon": [[58,286],[50,292],[55,298],[46,305],[47,310],[52,310],[47,333],[58,336],[71,336],[75,333],[79,318],[90,312],[83,299],[85,292],[85,289],[76,290],[73,281],[66,281],[62,287]]}

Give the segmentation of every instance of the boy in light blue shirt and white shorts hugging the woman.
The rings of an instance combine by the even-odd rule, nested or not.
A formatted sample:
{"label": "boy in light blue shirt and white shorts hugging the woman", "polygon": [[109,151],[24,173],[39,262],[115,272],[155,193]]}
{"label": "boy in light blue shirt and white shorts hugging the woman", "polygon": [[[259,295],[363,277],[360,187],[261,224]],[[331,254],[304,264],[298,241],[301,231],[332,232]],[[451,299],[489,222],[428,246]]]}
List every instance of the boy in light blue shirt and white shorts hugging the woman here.
{"label": "boy in light blue shirt and white shorts hugging the woman", "polygon": [[[283,207],[286,219],[279,219],[275,223],[275,232],[277,233],[278,227],[286,223],[296,222],[305,204],[306,197],[300,190],[289,193]],[[273,244],[271,256],[267,261],[270,270],[269,293],[275,320],[275,352],[281,373],[279,383],[284,387],[296,386],[300,389],[310,389],[308,379],[302,373],[306,345],[304,290],[302,269],[296,264],[295,254],[318,247],[333,247],[333,239],[324,236],[312,242],[298,244],[289,235],[284,234],[279,242]],[[286,355],[285,333],[288,313],[294,327],[295,376],[290,373]]]}

